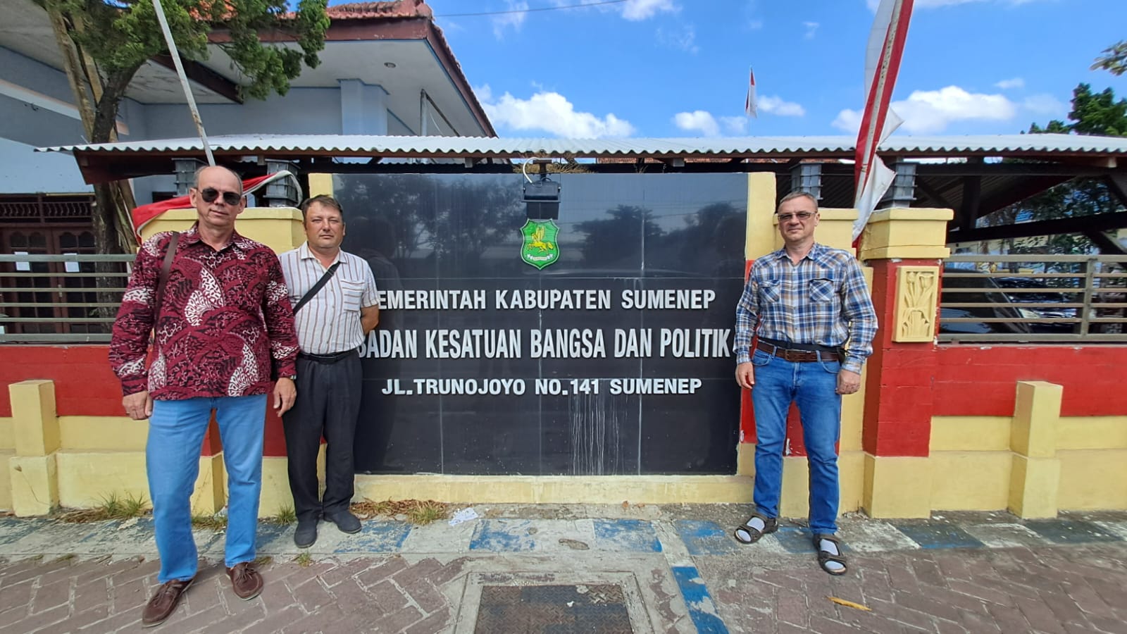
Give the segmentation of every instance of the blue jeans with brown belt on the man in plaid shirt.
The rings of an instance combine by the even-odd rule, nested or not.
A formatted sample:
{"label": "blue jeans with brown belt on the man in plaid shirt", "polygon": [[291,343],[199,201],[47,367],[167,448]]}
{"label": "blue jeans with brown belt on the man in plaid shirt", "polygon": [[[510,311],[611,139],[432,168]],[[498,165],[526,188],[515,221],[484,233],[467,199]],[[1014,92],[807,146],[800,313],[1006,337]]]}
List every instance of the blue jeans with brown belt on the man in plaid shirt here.
{"label": "blue jeans with brown belt on the man in plaid shirt", "polygon": [[791,362],[756,350],[755,366],[755,508],[767,518],[779,517],[782,488],[782,450],[787,438],[787,413],[798,405],[802,439],[810,467],[810,530],[837,531],[836,443],[841,437],[842,397],[836,393],[836,360]]}

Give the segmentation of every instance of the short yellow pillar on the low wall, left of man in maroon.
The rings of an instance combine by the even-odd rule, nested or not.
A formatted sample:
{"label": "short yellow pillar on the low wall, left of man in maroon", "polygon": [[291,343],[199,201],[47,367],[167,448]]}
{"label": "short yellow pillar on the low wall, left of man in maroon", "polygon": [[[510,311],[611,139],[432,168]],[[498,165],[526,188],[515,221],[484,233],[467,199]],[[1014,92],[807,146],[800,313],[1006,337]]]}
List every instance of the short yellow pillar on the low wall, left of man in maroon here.
{"label": "short yellow pillar on the low wall, left of man in maroon", "polygon": [[11,507],[19,517],[45,516],[59,507],[60,446],[55,384],[28,380],[8,386],[16,455],[8,458]]}

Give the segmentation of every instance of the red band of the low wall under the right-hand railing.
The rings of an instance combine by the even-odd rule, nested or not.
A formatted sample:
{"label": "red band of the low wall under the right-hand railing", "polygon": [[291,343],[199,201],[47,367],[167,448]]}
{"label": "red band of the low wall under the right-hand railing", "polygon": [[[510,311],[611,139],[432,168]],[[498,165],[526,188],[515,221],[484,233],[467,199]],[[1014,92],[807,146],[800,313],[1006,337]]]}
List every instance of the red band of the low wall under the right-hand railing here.
{"label": "red band of the low wall under the right-hand railing", "polygon": [[1124,345],[942,345],[935,353],[935,416],[1012,416],[1017,381],[1064,386],[1064,416],[1127,414]]}

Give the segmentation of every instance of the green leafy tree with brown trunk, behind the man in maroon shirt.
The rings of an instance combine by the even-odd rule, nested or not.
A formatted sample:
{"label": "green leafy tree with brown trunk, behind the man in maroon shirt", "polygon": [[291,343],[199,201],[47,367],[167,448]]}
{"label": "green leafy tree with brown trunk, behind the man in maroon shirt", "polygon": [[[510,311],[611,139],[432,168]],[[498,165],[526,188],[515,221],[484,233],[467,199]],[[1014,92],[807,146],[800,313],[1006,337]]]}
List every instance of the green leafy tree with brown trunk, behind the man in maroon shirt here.
{"label": "green leafy tree with brown trunk, behind the man in maroon shirt", "polygon": [[[91,143],[116,140],[118,106],[137,70],[168,47],[151,0],[35,0],[51,19],[64,71]],[[285,94],[302,63],[319,63],[329,27],[327,0],[165,0],[162,7],[180,55],[207,58],[216,44],[246,78],[249,97]],[[218,32],[219,37],[211,38]],[[267,36],[269,42],[264,42]],[[286,46],[287,43],[296,47]],[[187,115],[186,115],[187,116]],[[95,237],[101,253],[133,244],[132,196],[123,184],[95,187]]]}

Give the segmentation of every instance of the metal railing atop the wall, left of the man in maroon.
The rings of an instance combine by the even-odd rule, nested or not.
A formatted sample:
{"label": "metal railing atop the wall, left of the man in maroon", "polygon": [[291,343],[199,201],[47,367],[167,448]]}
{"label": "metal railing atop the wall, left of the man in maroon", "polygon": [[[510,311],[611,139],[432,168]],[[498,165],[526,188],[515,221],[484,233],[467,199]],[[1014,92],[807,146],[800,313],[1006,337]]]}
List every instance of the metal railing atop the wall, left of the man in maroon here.
{"label": "metal railing atop the wall, left of the man in maroon", "polygon": [[0,255],[0,343],[108,342],[133,255]]}

